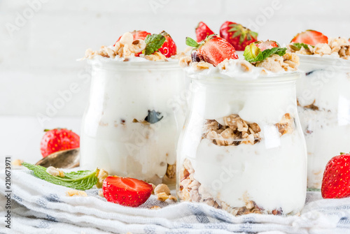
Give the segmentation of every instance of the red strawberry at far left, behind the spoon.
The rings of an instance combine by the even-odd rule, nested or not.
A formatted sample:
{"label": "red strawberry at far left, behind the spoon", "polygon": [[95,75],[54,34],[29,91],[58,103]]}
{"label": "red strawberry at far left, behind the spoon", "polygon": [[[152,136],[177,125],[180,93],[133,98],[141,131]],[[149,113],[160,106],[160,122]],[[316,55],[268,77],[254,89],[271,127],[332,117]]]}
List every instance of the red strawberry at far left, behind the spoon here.
{"label": "red strawberry at far left, behind the spoon", "polygon": [[65,149],[76,149],[80,146],[80,137],[68,129],[45,130],[41,139],[40,150],[43,157]]}

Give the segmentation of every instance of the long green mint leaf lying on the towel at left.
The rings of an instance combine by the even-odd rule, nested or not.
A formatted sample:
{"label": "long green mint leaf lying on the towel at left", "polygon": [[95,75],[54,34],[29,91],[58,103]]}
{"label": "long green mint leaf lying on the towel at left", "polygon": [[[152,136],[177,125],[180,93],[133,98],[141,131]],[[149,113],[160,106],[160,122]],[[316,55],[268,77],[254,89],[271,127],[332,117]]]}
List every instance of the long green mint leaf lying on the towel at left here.
{"label": "long green mint leaf lying on the towel at left", "polygon": [[78,170],[76,172],[64,173],[64,177],[53,176],[46,172],[43,166],[36,166],[31,163],[22,163],[29,170],[33,170],[34,175],[41,180],[45,180],[52,184],[58,184],[71,189],[86,190],[91,189],[97,184],[97,170]]}

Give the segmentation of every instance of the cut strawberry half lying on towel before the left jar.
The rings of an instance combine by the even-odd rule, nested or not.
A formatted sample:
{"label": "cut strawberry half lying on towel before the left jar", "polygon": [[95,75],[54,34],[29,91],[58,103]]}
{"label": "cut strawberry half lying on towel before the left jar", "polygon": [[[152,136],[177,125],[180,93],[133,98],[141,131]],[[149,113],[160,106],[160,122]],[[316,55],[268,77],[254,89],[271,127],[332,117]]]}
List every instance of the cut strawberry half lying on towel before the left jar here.
{"label": "cut strawberry half lying on towel before the left jar", "polygon": [[153,187],[142,180],[109,176],[102,185],[104,197],[111,203],[138,207],[151,196]]}

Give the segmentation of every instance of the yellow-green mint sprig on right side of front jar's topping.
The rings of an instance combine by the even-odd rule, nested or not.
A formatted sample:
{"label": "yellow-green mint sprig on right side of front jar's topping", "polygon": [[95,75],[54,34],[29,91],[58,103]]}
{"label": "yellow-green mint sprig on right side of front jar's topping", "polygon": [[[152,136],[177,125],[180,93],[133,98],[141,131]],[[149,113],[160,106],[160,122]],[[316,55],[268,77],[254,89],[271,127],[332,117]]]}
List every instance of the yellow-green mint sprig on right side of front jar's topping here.
{"label": "yellow-green mint sprig on right side of front jar's topping", "polygon": [[283,56],[284,54],[286,54],[286,47],[273,47],[271,49],[261,51],[255,44],[256,43],[251,43],[250,45],[246,46],[243,53],[244,59],[246,59],[246,61],[250,63],[262,61],[272,56],[272,54],[277,54],[279,56]]}

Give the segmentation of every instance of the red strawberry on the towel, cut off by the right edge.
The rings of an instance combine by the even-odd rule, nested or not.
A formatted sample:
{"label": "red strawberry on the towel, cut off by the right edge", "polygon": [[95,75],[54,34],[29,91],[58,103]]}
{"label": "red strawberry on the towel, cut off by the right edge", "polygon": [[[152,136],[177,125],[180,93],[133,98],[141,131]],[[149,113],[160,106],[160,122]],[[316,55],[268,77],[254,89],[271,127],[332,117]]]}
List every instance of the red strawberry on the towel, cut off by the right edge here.
{"label": "red strawberry on the towel, cut off by the right edge", "polygon": [[328,161],[323,173],[321,193],[323,198],[350,196],[350,154],[341,154]]}

